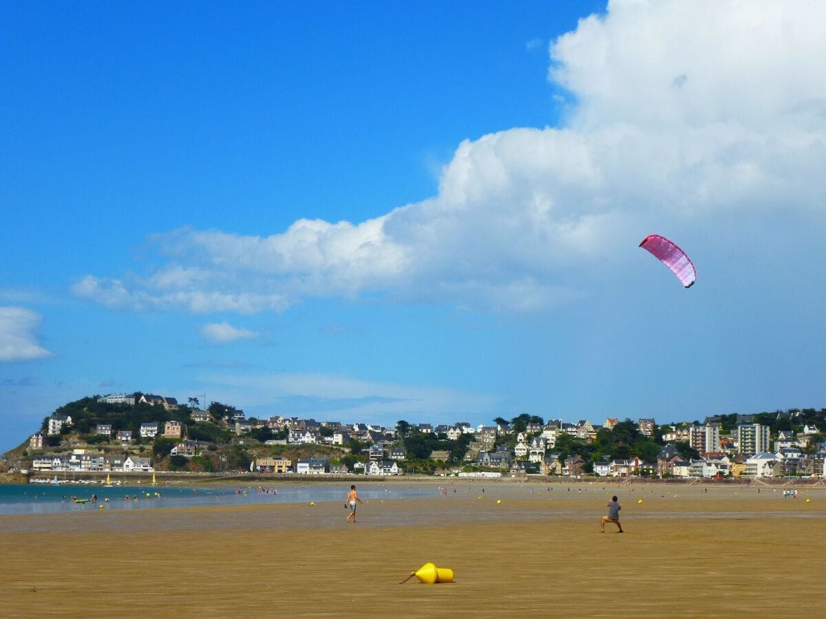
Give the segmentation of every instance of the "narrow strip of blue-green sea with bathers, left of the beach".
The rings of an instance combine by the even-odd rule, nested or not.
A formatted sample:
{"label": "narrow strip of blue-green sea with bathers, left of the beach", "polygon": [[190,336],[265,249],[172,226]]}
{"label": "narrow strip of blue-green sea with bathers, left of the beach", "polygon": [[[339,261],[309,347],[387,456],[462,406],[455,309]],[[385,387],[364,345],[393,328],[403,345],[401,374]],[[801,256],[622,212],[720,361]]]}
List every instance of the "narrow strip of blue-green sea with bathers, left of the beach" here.
{"label": "narrow strip of blue-green sea with bathers, left of the beach", "polygon": [[[228,484],[192,486],[135,485],[106,487],[101,484],[25,484],[0,485],[0,514],[61,513],[97,509],[185,508],[205,505],[254,505],[268,503],[310,503],[342,501],[347,497],[350,482],[316,482],[311,484]],[[362,500],[409,499],[433,496],[436,489],[385,485],[376,482],[358,484]],[[97,504],[74,503],[72,497],[91,499]],[[129,500],[126,500],[126,496]],[[134,497],[137,496],[137,500]],[[106,499],[109,499],[107,503]]]}

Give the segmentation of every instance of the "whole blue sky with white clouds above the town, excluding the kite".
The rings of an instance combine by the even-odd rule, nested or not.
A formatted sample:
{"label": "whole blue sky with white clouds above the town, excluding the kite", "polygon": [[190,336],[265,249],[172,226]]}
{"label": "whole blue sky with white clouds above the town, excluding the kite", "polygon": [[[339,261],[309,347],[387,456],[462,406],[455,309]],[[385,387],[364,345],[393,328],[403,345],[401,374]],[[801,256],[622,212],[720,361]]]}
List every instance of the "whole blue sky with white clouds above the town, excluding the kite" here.
{"label": "whole blue sky with white clouds above the town, excluding the kite", "polygon": [[135,390],[387,425],[823,407],[824,11],[3,5],[0,450]]}

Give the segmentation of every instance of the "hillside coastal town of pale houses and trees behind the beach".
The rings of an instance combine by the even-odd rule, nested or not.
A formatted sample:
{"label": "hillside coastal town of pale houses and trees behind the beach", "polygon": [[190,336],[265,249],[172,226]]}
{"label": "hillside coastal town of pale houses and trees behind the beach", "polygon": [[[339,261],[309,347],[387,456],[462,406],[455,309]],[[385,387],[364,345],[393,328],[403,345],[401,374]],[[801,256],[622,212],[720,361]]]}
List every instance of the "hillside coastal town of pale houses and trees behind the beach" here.
{"label": "hillside coastal town of pale houses and trees behind the beach", "polygon": [[[145,420],[145,419],[152,420]],[[539,475],[582,479],[822,477],[826,411],[717,415],[657,425],[654,418],[580,419],[526,414],[473,427],[318,422],[197,398],[136,392],[94,396],[44,419],[7,467],[32,475],[249,471],[278,475]]]}

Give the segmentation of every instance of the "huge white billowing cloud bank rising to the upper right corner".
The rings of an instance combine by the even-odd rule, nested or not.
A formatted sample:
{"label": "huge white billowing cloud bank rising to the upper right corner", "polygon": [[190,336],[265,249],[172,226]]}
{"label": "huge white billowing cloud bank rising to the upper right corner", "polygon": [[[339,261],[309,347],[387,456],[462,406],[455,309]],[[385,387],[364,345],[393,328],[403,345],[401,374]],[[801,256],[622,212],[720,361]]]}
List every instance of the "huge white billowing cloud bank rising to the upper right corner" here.
{"label": "huge white billowing cloud bank rising to the upper right corner", "polygon": [[138,310],[371,294],[534,311],[622,273],[650,232],[699,243],[748,220],[758,245],[778,216],[822,225],[824,20],[823,2],[610,2],[549,45],[564,124],[463,141],[432,198],[267,236],[156,234],[158,271],[89,275],[74,293]]}

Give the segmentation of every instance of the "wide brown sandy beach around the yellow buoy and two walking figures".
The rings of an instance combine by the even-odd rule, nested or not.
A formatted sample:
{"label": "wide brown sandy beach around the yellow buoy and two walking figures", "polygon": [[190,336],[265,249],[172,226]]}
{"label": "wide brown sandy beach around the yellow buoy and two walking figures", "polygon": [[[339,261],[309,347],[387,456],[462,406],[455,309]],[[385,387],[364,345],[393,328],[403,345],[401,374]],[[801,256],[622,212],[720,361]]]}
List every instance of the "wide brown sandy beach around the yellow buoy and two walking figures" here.
{"label": "wide brown sandy beach around the yellow buoy and two walking figures", "polygon": [[[822,616],[826,488],[570,487],[0,517],[2,616]],[[397,584],[427,561],[455,582]]]}

